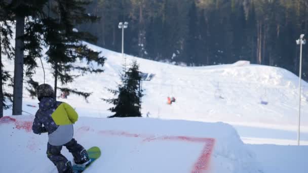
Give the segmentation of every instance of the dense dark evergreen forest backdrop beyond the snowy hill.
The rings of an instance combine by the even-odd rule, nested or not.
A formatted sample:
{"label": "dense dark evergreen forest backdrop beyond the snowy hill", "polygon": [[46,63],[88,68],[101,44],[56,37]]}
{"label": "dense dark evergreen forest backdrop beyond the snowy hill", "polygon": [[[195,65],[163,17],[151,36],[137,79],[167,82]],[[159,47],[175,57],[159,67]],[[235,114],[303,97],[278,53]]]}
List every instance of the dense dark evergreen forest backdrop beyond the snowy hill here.
{"label": "dense dark evergreen forest backdrop beyond the snowy hill", "polygon": [[[55,20],[57,27],[62,27],[61,34],[58,34],[61,35],[59,38],[69,39],[65,28],[70,27],[63,26],[63,23],[65,23],[64,18],[71,16],[71,12],[67,12],[66,15],[63,9],[72,10],[73,8],[65,6],[71,6],[73,1],[49,0],[47,3],[47,0],[14,0],[11,2],[15,2],[15,8],[19,6],[18,2],[21,4],[31,2],[30,8],[26,7],[20,11],[27,11],[31,14],[29,15],[31,19],[42,19],[45,22],[47,22],[46,16],[50,16]],[[75,0],[75,2],[85,1]],[[45,5],[41,8],[45,9],[44,16],[33,17],[34,14],[37,15],[33,12],[38,11],[37,7],[40,7],[40,4]],[[59,4],[62,4],[62,10]],[[308,28],[306,0],[93,0],[91,6],[84,7],[90,14],[101,17],[99,23],[92,24],[87,20],[75,22],[77,20],[71,17],[68,21],[73,21],[73,28],[90,31],[97,35],[98,46],[121,52],[121,30],[118,29],[118,23],[127,21],[129,28],[125,30],[124,40],[126,54],[197,65],[233,63],[247,59],[254,64],[280,66],[298,73],[299,50],[295,45],[291,46],[291,43]],[[47,11],[50,13],[47,14]],[[37,22],[25,18],[25,35],[37,32],[35,23]],[[46,26],[50,27],[50,25],[56,26],[46,24],[45,30],[47,30]],[[29,46],[38,43],[35,37],[20,38],[24,39],[25,44],[28,43]],[[32,38],[35,40],[31,40]],[[63,42],[61,39],[59,39],[60,42]],[[95,39],[83,40],[93,44],[96,42]],[[49,47],[50,42],[46,45]],[[28,49],[26,47],[25,45],[25,49]],[[307,45],[304,46],[304,50],[306,47]],[[32,53],[40,52],[38,49],[32,50]],[[34,58],[31,59],[32,53],[28,54],[28,51],[24,51],[24,64],[34,64],[29,66],[26,72],[29,75],[31,71],[33,72],[31,68],[35,67]],[[303,64],[308,62],[306,59],[308,54],[303,55]],[[61,62],[59,64],[63,66]],[[62,69],[59,67],[59,70]],[[303,73],[308,73],[307,70],[308,68],[304,66]]]}

